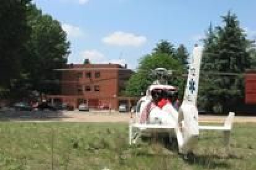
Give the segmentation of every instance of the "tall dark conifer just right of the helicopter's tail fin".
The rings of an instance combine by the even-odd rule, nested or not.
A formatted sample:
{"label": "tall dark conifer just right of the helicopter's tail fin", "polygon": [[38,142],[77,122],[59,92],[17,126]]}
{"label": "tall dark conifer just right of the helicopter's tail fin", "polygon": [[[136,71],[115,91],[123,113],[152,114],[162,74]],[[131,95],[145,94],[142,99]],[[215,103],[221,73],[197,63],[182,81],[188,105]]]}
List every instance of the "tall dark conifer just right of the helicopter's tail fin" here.
{"label": "tall dark conifer just right of the helicopter's tail fin", "polygon": [[[244,73],[252,66],[249,49],[252,41],[246,38],[244,30],[239,26],[235,14],[229,11],[222,17],[223,26],[212,26],[204,39],[202,71],[224,71]],[[203,78],[200,95],[205,95],[208,108],[216,105],[224,111],[242,102],[244,97],[244,82],[242,78],[230,76],[208,76]]]}

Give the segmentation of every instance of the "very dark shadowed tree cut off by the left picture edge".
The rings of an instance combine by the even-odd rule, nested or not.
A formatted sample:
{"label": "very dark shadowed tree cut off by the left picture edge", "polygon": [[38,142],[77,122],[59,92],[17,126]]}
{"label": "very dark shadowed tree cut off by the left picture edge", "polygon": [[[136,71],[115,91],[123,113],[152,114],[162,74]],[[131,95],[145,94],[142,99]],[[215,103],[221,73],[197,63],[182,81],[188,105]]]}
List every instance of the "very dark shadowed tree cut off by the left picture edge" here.
{"label": "very dark shadowed tree cut off by the left picture edge", "polygon": [[1,1],[0,5],[0,94],[10,91],[20,78],[23,45],[27,42],[30,0]]}

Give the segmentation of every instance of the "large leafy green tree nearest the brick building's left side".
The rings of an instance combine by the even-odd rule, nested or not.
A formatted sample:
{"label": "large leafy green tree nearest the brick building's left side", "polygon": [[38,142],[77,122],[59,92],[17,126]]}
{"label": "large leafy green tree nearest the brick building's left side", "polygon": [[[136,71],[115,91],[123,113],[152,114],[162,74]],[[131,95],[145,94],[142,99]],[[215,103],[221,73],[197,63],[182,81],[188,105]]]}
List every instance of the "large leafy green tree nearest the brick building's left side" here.
{"label": "large leafy green tree nearest the brick building's left side", "polygon": [[27,55],[23,56],[23,70],[28,73],[31,90],[49,93],[56,91],[56,84],[49,84],[57,79],[54,69],[66,65],[70,42],[58,20],[48,14],[42,14],[35,5],[30,5],[28,15],[32,32],[25,44]]}

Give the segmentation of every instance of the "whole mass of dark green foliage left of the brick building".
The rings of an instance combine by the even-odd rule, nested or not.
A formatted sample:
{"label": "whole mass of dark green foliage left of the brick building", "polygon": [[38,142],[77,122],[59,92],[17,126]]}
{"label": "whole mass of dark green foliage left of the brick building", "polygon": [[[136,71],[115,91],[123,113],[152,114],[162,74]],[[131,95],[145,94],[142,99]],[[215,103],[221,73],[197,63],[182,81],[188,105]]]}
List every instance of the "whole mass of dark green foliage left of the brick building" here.
{"label": "whole mass of dark green foliage left of the brick building", "polygon": [[53,70],[66,65],[70,53],[60,23],[28,0],[1,2],[0,20],[0,97],[56,91],[49,84],[57,78]]}

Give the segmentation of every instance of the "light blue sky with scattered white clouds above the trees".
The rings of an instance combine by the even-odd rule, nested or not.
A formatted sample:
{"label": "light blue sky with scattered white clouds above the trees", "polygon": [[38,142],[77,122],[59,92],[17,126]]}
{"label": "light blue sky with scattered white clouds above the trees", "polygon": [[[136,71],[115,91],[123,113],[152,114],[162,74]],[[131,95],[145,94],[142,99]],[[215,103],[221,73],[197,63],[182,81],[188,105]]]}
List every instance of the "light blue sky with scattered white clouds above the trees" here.
{"label": "light blue sky with scattered white clouds above the trees", "polygon": [[256,38],[256,1],[231,0],[34,0],[61,23],[70,41],[68,63],[127,63],[138,67],[160,39],[192,51],[210,23],[234,12],[249,39]]}

